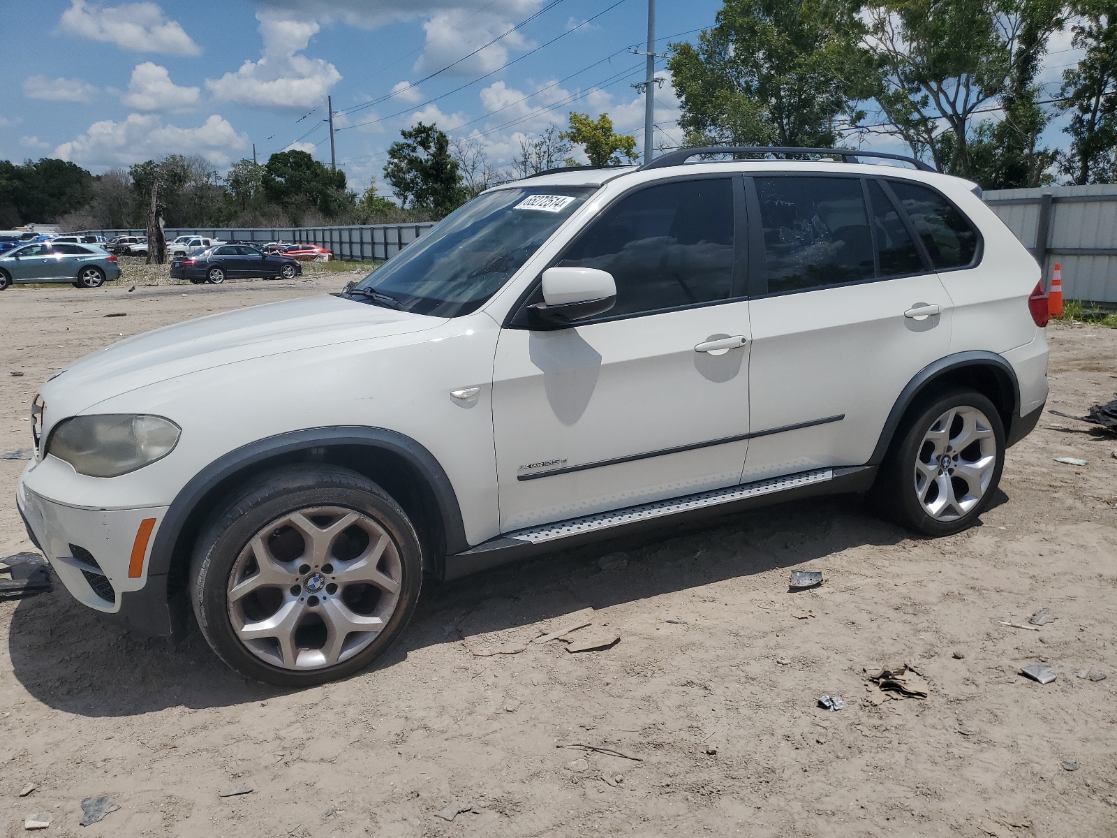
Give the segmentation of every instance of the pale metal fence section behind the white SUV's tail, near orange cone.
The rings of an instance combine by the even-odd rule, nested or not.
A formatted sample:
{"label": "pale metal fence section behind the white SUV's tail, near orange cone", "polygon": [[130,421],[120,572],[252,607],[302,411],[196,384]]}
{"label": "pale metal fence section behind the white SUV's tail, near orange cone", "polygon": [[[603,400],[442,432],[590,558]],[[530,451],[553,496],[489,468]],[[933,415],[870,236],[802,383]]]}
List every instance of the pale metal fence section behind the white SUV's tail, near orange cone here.
{"label": "pale metal fence section behind the white SUV's tail, near orange cone", "polygon": [[1117,304],[1117,183],[996,189],[984,194],[1068,299]]}

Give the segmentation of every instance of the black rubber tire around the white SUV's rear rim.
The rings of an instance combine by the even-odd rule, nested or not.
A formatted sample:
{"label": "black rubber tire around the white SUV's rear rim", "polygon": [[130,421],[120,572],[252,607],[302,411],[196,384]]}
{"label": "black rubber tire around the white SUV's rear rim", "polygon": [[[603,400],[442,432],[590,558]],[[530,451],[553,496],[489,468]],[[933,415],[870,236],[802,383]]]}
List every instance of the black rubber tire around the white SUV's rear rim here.
{"label": "black rubber tire around the white SUV's rear rim", "polygon": [[[939,418],[954,409],[962,411],[976,410],[982,415],[984,422],[981,427],[992,431],[992,436],[986,437],[986,439],[991,439],[992,445],[995,445],[994,453],[982,455],[981,451],[974,448],[974,446],[978,446],[980,444],[972,442],[962,450],[953,451],[951,448],[946,449],[947,454],[953,451],[953,464],[949,460],[945,464],[939,464],[938,459],[930,457],[934,447],[926,441],[926,438]],[[961,417],[955,421],[962,421]],[[952,434],[953,431],[947,428],[947,438]],[[932,446],[932,448],[928,449],[928,446]],[[973,526],[978,516],[992,503],[996,487],[1001,482],[1001,472],[1004,468],[1004,423],[1001,419],[1001,413],[996,409],[996,406],[985,396],[973,390],[951,390],[932,394],[913,406],[904,417],[904,420],[900,421],[888,453],[885,455],[885,460],[880,465],[877,480],[867,493],[867,499],[884,517],[917,533],[939,537],[962,532]],[[994,457],[987,484],[981,489],[981,495],[977,496],[976,503],[968,505],[964,514],[956,514],[963,513],[960,505],[946,511],[949,514],[948,518],[944,517],[939,520],[933,517],[920,501],[920,492],[917,488],[917,459],[924,463],[924,468],[927,469],[934,470],[942,466],[938,472],[938,479],[949,480],[952,486],[948,487],[948,491],[956,495],[963,491],[961,486],[966,486],[965,491],[968,492],[968,484],[964,477],[958,476],[960,473],[956,474],[953,467],[947,468],[946,466],[957,466],[960,457],[962,458],[962,465],[966,465],[968,461],[976,461],[971,459],[975,454],[981,455],[981,461],[986,463],[989,461],[987,457]],[[934,479],[930,482],[934,482]],[[923,498],[930,502],[937,501],[938,489],[930,487],[929,483],[924,485],[927,488],[924,491]],[[962,499],[964,501],[967,496],[973,497],[974,495],[971,493]]]}

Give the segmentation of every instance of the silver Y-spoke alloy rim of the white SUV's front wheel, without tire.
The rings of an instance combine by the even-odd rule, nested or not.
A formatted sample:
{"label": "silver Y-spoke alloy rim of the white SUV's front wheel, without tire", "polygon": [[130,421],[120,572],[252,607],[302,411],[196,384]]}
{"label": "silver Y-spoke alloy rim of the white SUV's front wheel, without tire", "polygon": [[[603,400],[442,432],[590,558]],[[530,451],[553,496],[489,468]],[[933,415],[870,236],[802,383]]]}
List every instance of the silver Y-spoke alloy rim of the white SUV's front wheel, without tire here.
{"label": "silver Y-spoke alloy rim of the white SUV's front wheel, without tire", "polygon": [[399,549],[375,518],[341,506],[288,513],[259,530],[229,574],[233,634],[284,669],[333,666],[384,629],[400,601]]}

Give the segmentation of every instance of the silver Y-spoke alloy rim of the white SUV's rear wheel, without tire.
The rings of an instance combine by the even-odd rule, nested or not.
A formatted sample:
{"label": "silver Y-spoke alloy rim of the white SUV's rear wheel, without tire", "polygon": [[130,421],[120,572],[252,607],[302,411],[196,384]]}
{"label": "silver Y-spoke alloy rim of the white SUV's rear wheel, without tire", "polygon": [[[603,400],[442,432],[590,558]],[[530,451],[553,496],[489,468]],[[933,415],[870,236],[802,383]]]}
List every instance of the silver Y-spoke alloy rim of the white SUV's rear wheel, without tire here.
{"label": "silver Y-spoke alloy rim of the white SUV's rear wheel, without tire", "polygon": [[936,419],[919,445],[915,491],[935,521],[957,521],[981,503],[996,470],[996,436],[981,410],[951,408]]}

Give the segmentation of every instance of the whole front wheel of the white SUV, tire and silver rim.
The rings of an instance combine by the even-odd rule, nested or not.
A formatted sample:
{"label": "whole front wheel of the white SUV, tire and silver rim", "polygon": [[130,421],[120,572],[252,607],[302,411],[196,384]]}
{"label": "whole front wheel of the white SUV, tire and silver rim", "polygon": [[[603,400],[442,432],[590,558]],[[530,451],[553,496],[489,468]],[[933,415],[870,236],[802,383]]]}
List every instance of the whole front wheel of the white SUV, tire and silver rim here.
{"label": "whole front wheel of the white SUV, tire and silver rim", "polygon": [[352,675],[403,630],[419,537],[367,478],[335,466],[262,475],[199,540],[190,597],[213,650],[242,675],[303,687]]}

